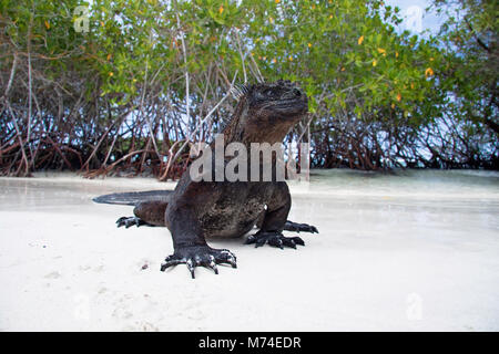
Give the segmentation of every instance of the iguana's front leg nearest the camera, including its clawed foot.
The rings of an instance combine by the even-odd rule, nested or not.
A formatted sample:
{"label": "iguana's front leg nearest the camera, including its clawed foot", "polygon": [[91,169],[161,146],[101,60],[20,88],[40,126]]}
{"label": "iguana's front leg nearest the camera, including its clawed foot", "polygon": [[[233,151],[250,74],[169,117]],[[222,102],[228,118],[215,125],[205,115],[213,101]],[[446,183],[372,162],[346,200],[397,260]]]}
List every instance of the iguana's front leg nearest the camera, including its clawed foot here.
{"label": "iguana's front leg nearest the camera, including its clawed foot", "polygon": [[165,221],[173,238],[174,253],[166,257],[161,271],[177,264],[186,264],[192,278],[198,266],[212,269],[218,274],[216,264],[231,264],[237,268],[236,257],[226,249],[211,248],[203,236],[194,208],[187,204],[173,202],[165,212]]}

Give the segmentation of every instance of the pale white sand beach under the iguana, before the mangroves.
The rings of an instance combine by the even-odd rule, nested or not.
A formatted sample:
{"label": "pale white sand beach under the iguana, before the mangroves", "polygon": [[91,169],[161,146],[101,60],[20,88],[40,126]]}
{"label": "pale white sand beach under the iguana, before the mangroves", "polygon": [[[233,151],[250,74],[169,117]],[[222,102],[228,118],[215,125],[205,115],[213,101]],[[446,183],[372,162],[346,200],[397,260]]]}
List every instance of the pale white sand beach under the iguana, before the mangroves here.
{"label": "pale white sand beach under the iguana, before the mangroves", "polygon": [[[499,173],[313,171],[292,185],[305,247],[255,249],[220,274],[171,254],[165,228],[116,228],[91,198],[147,178],[0,178],[1,331],[499,331]],[[292,232],[286,232],[292,235]]]}

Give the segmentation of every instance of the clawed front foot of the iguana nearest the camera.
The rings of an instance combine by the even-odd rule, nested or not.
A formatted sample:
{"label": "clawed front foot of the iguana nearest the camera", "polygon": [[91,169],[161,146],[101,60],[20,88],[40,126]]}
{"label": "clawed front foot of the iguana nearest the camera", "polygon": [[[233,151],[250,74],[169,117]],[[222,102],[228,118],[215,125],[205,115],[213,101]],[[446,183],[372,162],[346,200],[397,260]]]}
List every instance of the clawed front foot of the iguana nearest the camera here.
{"label": "clawed front foot of the iguana nearest the camera", "polygon": [[164,272],[166,268],[186,264],[194,279],[194,269],[197,266],[213,269],[215,274],[218,274],[216,264],[231,264],[232,268],[237,268],[236,257],[230,250],[217,250],[208,246],[185,246],[175,250],[175,253],[166,257],[161,264],[161,271]]}

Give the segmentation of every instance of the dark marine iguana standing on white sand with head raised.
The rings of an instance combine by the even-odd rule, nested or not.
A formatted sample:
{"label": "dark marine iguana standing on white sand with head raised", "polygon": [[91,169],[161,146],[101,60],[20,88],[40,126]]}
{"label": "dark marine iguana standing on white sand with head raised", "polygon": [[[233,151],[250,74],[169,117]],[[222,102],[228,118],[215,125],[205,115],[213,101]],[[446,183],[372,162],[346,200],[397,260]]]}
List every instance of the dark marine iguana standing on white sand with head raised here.
{"label": "dark marine iguana standing on white sand with head raised", "polygon": [[[223,129],[224,140],[251,143],[283,142],[289,129],[307,113],[307,96],[289,81],[255,84],[238,90],[238,103]],[[161,266],[185,263],[194,278],[197,266],[218,273],[216,264],[236,268],[236,257],[226,249],[214,249],[206,238],[235,238],[259,229],[245,243],[255,247],[304,246],[299,237],[285,237],[283,230],[318,232],[307,223],[287,220],[291,195],[285,181],[194,181],[190,168],[174,190],[112,194],[94,198],[96,202],[135,206],[134,217],[118,219],[118,227],[166,226],[173,238],[174,253]],[[275,177],[275,176],[274,176]]]}

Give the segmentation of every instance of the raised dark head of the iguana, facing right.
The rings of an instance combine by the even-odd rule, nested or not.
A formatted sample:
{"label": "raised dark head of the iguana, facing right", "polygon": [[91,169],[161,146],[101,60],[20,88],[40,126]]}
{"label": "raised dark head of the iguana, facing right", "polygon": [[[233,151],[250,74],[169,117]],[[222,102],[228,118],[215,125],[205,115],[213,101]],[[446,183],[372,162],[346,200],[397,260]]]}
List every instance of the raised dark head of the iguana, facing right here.
{"label": "raised dark head of the iguana, facing right", "polygon": [[235,96],[238,104],[224,129],[226,142],[282,142],[308,111],[306,94],[289,81],[238,87]]}

